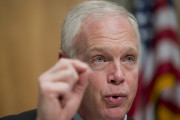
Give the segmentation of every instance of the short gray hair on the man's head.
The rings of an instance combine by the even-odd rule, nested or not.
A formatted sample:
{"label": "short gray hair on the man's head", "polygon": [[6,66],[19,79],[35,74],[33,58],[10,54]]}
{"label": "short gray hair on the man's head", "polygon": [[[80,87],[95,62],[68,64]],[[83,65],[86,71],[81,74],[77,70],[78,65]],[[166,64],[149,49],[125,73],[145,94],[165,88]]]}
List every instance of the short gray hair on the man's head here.
{"label": "short gray hair on the man's head", "polygon": [[[135,17],[129,13],[125,8],[117,5],[113,2],[108,1],[87,1],[76,5],[66,16],[62,29],[61,38],[61,49],[69,56],[74,57],[75,49],[75,37],[80,31],[83,21],[87,19],[90,15],[93,16],[92,19],[107,15],[115,14],[117,16],[124,16],[127,18],[129,23],[136,35],[137,47],[140,49],[141,40],[138,29],[138,24]],[[90,18],[91,19],[91,18]]]}

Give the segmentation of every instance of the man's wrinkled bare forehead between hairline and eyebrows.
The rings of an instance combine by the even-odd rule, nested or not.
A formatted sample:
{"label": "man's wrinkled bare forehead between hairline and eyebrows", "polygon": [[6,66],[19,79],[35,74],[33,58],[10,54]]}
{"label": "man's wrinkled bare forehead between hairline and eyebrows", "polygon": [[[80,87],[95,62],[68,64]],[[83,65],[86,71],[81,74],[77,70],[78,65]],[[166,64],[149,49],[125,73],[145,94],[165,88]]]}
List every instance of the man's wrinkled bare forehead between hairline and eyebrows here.
{"label": "man's wrinkled bare forehead between hairline and eyebrows", "polygon": [[123,16],[106,15],[95,20],[85,20],[78,39],[78,42],[76,41],[78,43],[78,51],[83,51],[82,53],[89,51],[91,47],[95,46],[110,45],[113,48],[120,48],[133,43],[131,46],[137,47],[133,28],[127,18]]}

